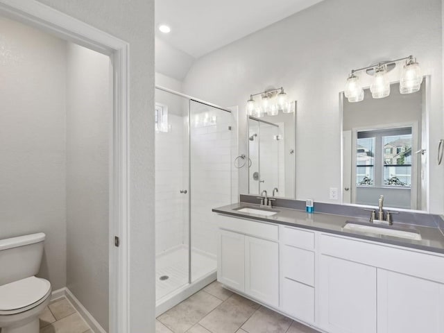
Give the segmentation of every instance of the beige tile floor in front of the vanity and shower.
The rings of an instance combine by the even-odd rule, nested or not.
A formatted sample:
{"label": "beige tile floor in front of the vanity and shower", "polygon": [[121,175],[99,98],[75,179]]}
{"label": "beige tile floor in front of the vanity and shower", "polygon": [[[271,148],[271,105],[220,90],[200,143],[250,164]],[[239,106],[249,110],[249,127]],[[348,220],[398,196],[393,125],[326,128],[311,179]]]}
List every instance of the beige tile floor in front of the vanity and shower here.
{"label": "beige tile floor in front of the vanity and shower", "polygon": [[318,333],[213,282],[157,317],[156,333]]}

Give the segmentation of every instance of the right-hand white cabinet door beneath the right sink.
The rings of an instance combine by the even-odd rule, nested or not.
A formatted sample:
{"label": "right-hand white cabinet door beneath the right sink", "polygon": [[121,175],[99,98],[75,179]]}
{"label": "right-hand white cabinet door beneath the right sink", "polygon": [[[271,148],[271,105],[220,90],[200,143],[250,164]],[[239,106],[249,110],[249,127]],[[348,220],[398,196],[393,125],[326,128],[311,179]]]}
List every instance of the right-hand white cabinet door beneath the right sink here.
{"label": "right-hand white cabinet door beneath the right sink", "polygon": [[378,333],[443,333],[444,285],[377,271]]}

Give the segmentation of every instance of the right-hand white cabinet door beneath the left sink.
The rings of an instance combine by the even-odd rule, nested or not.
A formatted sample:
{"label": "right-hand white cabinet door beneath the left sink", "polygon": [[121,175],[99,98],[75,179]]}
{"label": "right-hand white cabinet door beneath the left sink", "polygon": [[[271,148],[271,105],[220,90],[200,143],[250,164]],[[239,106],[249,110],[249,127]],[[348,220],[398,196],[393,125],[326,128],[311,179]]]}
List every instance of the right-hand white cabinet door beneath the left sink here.
{"label": "right-hand white cabinet door beneath the left sink", "polygon": [[279,305],[279,245],[245,237],[245,292],[268,305]]}

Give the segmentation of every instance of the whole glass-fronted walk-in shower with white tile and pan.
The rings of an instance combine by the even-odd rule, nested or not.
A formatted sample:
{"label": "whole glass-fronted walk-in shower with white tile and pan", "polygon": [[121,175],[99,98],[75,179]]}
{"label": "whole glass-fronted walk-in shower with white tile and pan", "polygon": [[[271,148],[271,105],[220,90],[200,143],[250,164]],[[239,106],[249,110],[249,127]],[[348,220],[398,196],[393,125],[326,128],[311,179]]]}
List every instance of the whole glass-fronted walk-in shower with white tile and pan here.
{"label": "whole glass-fronted walk-in shower with white tile and pan", "polygon": [[216,279],[212,208],[232,197],[230,110],[155,89],[156,312]]}

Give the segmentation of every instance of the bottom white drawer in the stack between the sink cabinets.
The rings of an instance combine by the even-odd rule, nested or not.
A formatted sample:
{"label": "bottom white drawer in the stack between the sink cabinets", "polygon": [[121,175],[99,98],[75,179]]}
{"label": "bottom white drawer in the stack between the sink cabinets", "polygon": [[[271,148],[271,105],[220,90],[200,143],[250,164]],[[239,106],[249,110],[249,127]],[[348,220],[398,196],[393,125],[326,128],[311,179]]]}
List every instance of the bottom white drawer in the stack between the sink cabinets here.
{"label": "bottom white drawer in the stack between the sink cabinets", "polygon": [[314,323],[314,288],[284,279],[282,311],[306,323]]}

